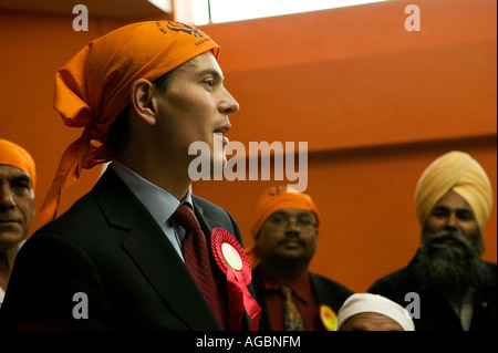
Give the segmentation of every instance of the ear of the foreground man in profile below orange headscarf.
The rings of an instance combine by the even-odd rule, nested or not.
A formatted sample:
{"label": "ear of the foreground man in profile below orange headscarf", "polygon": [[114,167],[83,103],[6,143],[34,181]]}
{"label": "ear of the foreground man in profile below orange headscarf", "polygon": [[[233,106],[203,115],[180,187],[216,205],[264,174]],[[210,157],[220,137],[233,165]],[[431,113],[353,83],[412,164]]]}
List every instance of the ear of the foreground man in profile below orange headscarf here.
{"label": "ear of the foreground man in profile below orange headscarf", "polygon": [[148,80],[138,79],[132,85],[131,106],[135,114],[151,126],[156,123],[154,93],[155,87]]}

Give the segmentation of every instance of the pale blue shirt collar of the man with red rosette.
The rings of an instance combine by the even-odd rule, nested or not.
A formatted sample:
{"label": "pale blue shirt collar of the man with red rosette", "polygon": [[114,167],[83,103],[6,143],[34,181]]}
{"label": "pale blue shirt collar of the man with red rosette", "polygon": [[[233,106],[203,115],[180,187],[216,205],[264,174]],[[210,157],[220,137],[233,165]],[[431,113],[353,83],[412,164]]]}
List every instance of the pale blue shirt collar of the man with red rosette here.
{"label": "pale blue shirt collar of the man with red rosette", "polygon": [[[138,200],[145,206],[154,220],[159,225],[166,237],[172,242],[178,256],[183,259],[181,242],[183,232],[178,232],[175,226],[168,221],[172,215],[180,205],[180,201],[172,194],[162,189],[157,185],[148,181],[141,175],[136,174],[122,162],[116,158],[111,164],[117,176],[126,184],[132,193],[138,198]],[[187,195],[181,200],[181,204],[188,204],[193,208],[191,190],[187,191]]]}

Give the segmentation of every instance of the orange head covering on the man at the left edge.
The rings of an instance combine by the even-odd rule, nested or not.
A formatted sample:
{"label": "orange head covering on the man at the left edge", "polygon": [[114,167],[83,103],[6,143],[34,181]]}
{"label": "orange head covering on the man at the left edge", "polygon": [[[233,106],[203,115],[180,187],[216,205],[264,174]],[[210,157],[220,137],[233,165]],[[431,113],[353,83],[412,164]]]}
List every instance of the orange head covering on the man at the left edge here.
{"label": "orange head covering on the man at the left edge", "polygon": [[37,185],[37,170],[33,157],[31,157],[28,150],[10,141],[0,138],[0,165],[2,164],[13,166],[28,173],[31,178],[31,187],[34,191],[34,186]]}

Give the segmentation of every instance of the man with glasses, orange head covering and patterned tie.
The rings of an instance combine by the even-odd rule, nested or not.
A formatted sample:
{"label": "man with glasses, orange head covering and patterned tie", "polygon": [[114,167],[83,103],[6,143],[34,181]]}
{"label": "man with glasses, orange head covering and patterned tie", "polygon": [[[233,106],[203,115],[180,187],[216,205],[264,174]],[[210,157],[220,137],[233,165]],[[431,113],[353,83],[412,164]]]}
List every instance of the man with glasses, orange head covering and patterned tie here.
{"label": "man with glasses, orange head covering and patterned tie", "polygon": [[248,255],[264,330],[335,330],[335,313],[352,292],[308,271],[319,221],[319,210],[307,194],[276,186],[260,196]]}

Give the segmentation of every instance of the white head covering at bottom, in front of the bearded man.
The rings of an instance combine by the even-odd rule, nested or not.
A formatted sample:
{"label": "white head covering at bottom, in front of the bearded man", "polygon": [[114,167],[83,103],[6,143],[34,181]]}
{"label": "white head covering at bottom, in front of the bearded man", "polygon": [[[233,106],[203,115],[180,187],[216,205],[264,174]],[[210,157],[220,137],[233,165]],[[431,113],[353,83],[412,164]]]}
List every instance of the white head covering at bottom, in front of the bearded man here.
{"label": "white head covering at bottom, in front of the bearded man", "polygon": [[385,297],[371,293],[355,293],[347,298],[338,313],[338,330],[347,319],[362,312],[387,316],[396,321],[404,331],[415,331],[413,320],[405,308]]}

